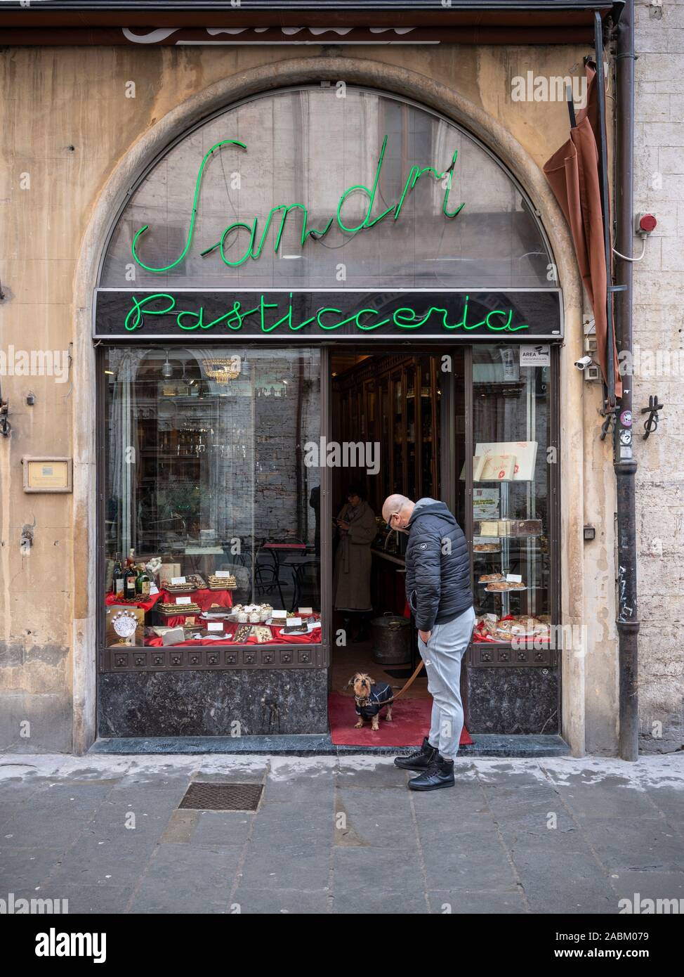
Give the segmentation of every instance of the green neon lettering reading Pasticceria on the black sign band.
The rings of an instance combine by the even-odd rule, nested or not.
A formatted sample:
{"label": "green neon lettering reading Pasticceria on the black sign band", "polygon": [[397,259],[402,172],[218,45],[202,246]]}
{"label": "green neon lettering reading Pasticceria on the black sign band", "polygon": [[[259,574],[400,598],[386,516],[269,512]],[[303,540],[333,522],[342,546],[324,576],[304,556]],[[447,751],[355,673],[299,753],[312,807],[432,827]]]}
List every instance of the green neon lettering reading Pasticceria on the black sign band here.
{"label": "green neon lettering reading Pasticceria on the black sign band", "polygon": [[[279,302],[266,302],[266,297],[263,294],[258,305],[253,309],[243,309],[242,303],[235,300],[222,316],[209,319],[205,317],[204,306],[199,306],[195,311],[179,309],[176,297],[168,292],[155,292],[151,295],[145,295],[141,299],[132,295],[132,305],[124,321],[124,327],[128,332],[135,332],[144,326],[145,316],[173,316],[176,319],[176,325],[185,332],[193,332],[195,329],[214,329],[218,326],[239,332],[242,329],[243,322],[246,319],[252,319],[252,317],[256,317],[258,328],[262,333],[275,332],[276,329],[299,332],[307,325],[314,325],[314,327],[324,331],[334,331],[347,323],[352,323],[353,327],[362,332],[372,332],[387,323],[391,323],[399,329],[421,329],[428,321],[430,324],[438,323],[447,332],[454,329],[464,329],[468,332],[480,326],[485,326],[490,332],[519,332],[521,329],[530,328],[527,322],[514,324],[513,310],[510,308],[492,309],[479,322],[468,322],[467,295],[464,296],[461,319],[453,322],[449,321],[448,311],[439,306],[430,306],[427,312],[417,312],[410,305],[395,309],[391,315],[385,316],[383,319],[380,318],[382,313],[376,309],[358,309],[353,315],[344,316],[342,309],[335,306],[323,306],[317,310],[315,315],[298,322],[293,316],[292,296],[293,293],[290,292],[285,309]],[[156,308],[154,303],[157,303]]]}

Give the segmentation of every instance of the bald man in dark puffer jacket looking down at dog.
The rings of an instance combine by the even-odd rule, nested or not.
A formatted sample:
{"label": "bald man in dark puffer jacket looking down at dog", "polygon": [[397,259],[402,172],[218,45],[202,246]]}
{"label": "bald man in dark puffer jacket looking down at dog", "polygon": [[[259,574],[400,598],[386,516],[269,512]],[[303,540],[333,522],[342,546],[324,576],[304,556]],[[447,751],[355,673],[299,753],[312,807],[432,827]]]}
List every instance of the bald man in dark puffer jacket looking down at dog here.
{"label": "bald man in dark puffer jacket looking down at dog", "polygon": [[461,660],[475,623],[470,560],[463,530],[443,502],[389,495],[382,518],[406,532],[406,599],[418,627],[418,647],[432,696],[429,735],[420,749],[397,756],[404,770],[420,770],[412,790],[454,786],[454,758],[463,730]]}

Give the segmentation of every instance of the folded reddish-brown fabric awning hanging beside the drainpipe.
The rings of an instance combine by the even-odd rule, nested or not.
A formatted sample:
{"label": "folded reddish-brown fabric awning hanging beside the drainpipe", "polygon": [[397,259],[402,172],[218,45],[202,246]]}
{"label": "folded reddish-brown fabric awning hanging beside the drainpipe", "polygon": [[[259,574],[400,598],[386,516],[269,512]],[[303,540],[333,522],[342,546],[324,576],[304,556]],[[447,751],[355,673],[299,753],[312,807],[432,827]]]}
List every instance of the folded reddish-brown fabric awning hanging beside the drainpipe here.
{"label": "folded reddish-brown fabric awning hanging beside the drainpipe", "polygon": [[[543,173],[570,225],[582,280],[593,309],[597,358],[606,380],[608,272],[598,157],[601,136],[598,128],[596,72],[586,64],[585,74],[586,106],[578,112],[577,125],[570,130],[570,139],[544,163]],[[623,387],[615,338],[613,351],[615,393],[620,397]]]}

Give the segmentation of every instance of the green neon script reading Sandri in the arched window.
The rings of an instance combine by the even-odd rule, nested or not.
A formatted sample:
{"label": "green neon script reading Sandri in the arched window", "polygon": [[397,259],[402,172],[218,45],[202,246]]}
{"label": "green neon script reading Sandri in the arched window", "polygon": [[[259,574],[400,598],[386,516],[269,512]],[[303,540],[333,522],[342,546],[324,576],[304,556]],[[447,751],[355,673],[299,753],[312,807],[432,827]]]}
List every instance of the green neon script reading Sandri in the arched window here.
{"label": "green neon script reading Sandri in the arched window", "polygon": [[[145,231],[147,231],[149,225],[145,224],[143,227],[140,228],[139,231],[136,232],[133,238],[131,251],[136,263],[140,265],[140,267],[143,268],[146,272],[157,272],[157,273],[169,272],[171,271],[172,268],[176,268],[176,266],[181,263],[181,261],[189,251],[190,246],[192,244],[192,235],[194,234],[194,230],[195,230],[195,218],[197,216],[197,201],[199,199],[199,191],[202,184],[202,176],[212,155],[214,153],[219,153],[221,149],[226,146],[236,147],[237,149],[245,149],[245,150],[247,149],[244,143],[240,143],[236,139],[223,139],[221,140],[220,143],[217,143],[215,146],[209,149],[207,153],[205,153],[202,162],[200,163],[199,170],[197,171],[197,180],[195,181],[195,191],[194,191],[194,196],[192,198],[192,212],[190,214],[190,225],[187,230],[185,246],[183,247],[179,257],[175,261],[170,262],[168,265],[163,265],[160,268],[153,268],[151,265],[146,265],[142,260],[141,255],[139,254],[139,248],[141,243],[141,237],[145,233]],[[457,149],[454,150],[454,155],[452,156],[451,164],[447,167],[447,169],[443,173],[438,172],[433,166],[423,166],[423,167],[412,166],[411,170],[409,171],[409,175],[406,179],[406,183],[404,184],[404,189],[403,191],[401,191],[401,195],[399,196],[397,202],[390,204],[390,206],[386,207],[382,211],[382,213],[378,214],[376,217],[371,217],[371,211],[373,210],[373,205],[375,203],[375,198],[376,198],[376,191],[378,190],[378,183],[380,180],[380,174],[382,170],[382,160],[384,159],[384,150],[386,149],[386,146],[387,146],[387,137],[385,136],[384,139],[382,140],[382,149],[380,153],[380,158],[378,160],[378,167],[376,169],[376,175],[373,181],[373,186],[369,188],[369,187],[365,187],[363,184],[355,184],[353,187],[349,187],[347,190],[345,190],[342,193],[340,199],[338,200],[338,206],[337,206],[335,216],[331,217],[328,223],[324,227],[318,229],[307,227],[308,212],[306,210],[306,207],[303,205],[303,203],[280,203],[276,207],[271,207],[271,209],[268,211],[268,215],[264,221],[263,230],[261,234],[258,234],[259,219],[257,217],[254,218],[251,224],[248,224],[245,221],[233,221],[233,223],[229,224],[225,229],[225,231],[223,231],[223,233],[221,234],[221,238],[218,241],[216,241],[216,243],[212,244],[210,247],[205,248],[200,253],[204,256],[207,254],[211,254],[213,251],[216,251],[218,249],[219,254],[221,255],[221,261],[225,265],[228,265],[230,268],[236,268],[237,266],[242,265],[249,258],[252,258],[253,260],[256,261],[262,254],[263,245],[266,240],[266,235],[270,230],[271,222],[273,221],[273,218],[275,217],[276,214],[280,214],[280,226],[277,230],[277,233],[275,234],[273,250],[274,251],[278,250],[278,247],[280,245],[280,240],[285,230],[285,222],[287,220],[287,216],[292,210],[302,211],[302,247],[309,239],[309,237],[313,238],[314,240],[320,240],[321,237],[324,237],[326,234],[328,234],[334,222],[337,222],[338,227],[345,234],[356,234],[359,231],[363,231],[375,227],[376,224],[379,224],[380,221],[382,221],[385,217],[389,217],[390,215],[393,221],[397,221],[399,219],[399,216],[401,215],[401,211],[404,206],[404,201],[406,200],[407,194],[410,193],[415,188],[418,181],[421,179],[421,177],[425,176],[425,174],[430,174],[434,180],[443,181],[444,201],[442,203],[442,213],[444,214],[444,216],[451,219],[456,217],[459,213],[461,213],[464,206],[463,203],[460,204],[456,208],[456,210],[449,210],[449,192],[451,191],[452,178],[454,175],[454,167],[456,166],[456,158],[458,155],[458,149]],[[364,193],[368,198],[368,208],[366,210],[366,216],[364,217],[364,219],[361,221],[360,224],[357,224],[355,226],[347,226],[342,218],[342,206],[348,196],[350,196],[352,193],[357,193],[357,192]],[[231,245],[234,244],[235,237],[233,235],[239,234],[240,231],[246,231],[249,234],[249,243],[247,244],[247,247],[242,255],[240,255],[239,257],[230,258],[226,253],[227,245],[228,243],[230,243]]]}

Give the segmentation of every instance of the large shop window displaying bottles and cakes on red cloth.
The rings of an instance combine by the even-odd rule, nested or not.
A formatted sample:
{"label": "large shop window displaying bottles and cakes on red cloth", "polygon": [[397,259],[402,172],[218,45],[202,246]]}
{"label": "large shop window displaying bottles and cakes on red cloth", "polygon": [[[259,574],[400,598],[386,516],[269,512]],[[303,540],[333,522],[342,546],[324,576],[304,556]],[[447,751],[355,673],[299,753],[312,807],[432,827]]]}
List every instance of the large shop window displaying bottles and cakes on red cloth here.
{"label": "large shop window displaying bottles and cakes on red cloth", "polygon": [[320,643],[318,351],[101,361],[105,646]]}

